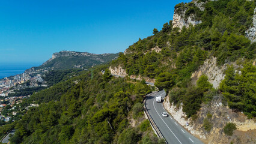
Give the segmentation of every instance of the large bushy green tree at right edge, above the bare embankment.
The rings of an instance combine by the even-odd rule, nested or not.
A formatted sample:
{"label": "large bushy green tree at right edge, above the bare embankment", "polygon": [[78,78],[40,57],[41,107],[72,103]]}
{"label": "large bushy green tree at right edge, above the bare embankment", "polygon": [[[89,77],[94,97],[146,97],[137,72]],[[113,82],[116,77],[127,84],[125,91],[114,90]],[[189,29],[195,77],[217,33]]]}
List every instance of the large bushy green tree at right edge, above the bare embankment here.
{"label": "large bushy green tree at right edge, above the bare embankment", "polygon": [[256,116],[256,66],[250,63],[243,65],[241,74],[235,73],[234,67],[226,70],[225,79],[220,90],[232,109],[242,110],[248,117]]}

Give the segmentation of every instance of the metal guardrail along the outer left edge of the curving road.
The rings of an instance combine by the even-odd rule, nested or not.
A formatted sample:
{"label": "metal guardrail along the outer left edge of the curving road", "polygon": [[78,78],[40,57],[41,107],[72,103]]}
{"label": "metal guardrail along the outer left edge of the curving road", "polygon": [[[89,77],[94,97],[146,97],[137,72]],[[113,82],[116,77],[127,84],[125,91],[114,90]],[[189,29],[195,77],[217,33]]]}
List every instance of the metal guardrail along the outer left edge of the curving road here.
{"label": "metal guardrail along the outer left edge of the curving road", "polygon": [[[154,93],[151,93],[151,94],[154,94]],[[144,99],[143,103],[144,103],[144,106],[143,106],[143,109],[144,109],[144,112],[146,113],[147,117],[148,117],[148,121],[150,121],[150,124],[152,125],[152,127],[154,128],[154,130],[156,131],[157,133],[157,136],[162,138],[162,139],[165,139],[165,137],[163,137],[163,134],[161,133],[161,131],[159,130],[159,128],[157,127],[156,123],[154,122],[153,118],[151,117],[150,113],[148,112],[147,110],[147,107],[146,107],[146,101],[147,101],[147,97],[150,96],[151,94],[147,94],[146,95],[146,98]],[[165,140],[165,143],[168,143],[166,142]]]}

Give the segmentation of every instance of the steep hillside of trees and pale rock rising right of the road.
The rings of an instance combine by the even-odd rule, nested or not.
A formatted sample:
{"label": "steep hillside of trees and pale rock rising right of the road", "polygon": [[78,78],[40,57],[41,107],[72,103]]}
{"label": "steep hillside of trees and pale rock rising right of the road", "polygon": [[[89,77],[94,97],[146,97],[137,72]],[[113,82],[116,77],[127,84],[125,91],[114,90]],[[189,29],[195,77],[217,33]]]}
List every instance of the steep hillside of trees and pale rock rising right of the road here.
{"label": "steep hillside of trees and pale rock rising right of the road", "polygon": [[[173,20],[129,46],[109,69],[166,89],[165,109],[205,143],[255,143],[255,4],[180,3]],[[224,129],[229,122],[232,133]]]}

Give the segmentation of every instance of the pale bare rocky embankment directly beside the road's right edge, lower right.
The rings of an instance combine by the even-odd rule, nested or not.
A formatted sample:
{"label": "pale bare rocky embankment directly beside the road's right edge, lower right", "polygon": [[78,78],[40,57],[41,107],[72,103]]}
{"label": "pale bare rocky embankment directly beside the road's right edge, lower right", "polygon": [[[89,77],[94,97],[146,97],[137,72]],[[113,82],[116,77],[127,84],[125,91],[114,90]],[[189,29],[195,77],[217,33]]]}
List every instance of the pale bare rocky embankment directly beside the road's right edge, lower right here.
{"label": "pale bare rocky embankment directly beside the road's right edge, lower right", "polygon": [[[243,113],[236,113],[222,104],[221,95],[215,95],[211,103],[202,104],[201,109],[197,113],[197,119],[186,119],[186,114],[182,110],[182,106],[176,107],[169,103],[169,96],[165,98],[163,106],[172,117],[180,123],[191,134],[201,139],[204,143],[255,143],[256,131],[255,119],[248,119]],[[204,119],[210,113],[212,118],[209,119],[212,129],[208,132],[204,130]],[[186,122],[189,125],[186,126]],[[223,128],[228,122],[236,124],[237,130],[233,136],[224,134]],[[245,137],[246,136],[246,137]]]}

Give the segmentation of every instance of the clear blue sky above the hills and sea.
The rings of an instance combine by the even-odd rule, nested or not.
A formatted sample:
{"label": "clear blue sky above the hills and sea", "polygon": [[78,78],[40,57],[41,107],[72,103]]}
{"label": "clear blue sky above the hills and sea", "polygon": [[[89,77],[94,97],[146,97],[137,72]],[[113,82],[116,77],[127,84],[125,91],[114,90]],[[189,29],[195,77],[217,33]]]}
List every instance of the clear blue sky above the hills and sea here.
{"label": "clear blue sky above the hills and sea", "polygon": [[1,1],[0,69],[39,66],[61,50],[124,52],[160,31],[180,2],[189,0]]}

